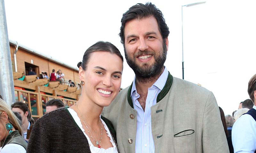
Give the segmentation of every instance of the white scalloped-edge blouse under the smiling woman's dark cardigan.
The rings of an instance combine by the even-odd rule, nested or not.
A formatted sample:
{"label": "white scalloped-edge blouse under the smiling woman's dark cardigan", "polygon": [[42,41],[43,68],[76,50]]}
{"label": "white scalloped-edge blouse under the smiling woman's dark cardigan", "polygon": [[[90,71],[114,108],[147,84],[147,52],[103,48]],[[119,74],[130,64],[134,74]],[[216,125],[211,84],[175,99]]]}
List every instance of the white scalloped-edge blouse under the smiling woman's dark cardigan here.
{"label": "white scalloped-edge blouse under the smiling woman's dark cardigan", "polygon": [[108,148],[108,149],[95,147],[95,146],[92,144],[92,142],[91,142],[89,136],[84,132],[84,129],[83,129],[81,120],[80,120],[80,118],[77,116],[77,113],[76,113],[73,109],[71,109],[71,108],[68,108],[68,111],[69,111],[69,113],[72,115],[72,117],[74,118],[74,120],[75,120],[76,124],[78,125],[78,127],[83,131],[84,135],[86,136],[86,138],[87,138],[87,140],[88,140],[88,142],[89,142],[90,150],[91,150],[92,153],[118,153],[118,152],[117,152],[117,149],[116,149],[116,144],[115,144],[114,141],[113,141],[113,138],[112,138],[112,136],[111,136],[111,134],[110,134],[110,132],[109,132],[109,129],[108,129],[106,123],[105,123],[102,119],[100,119],[100,120],[101,120],[102,124],[104,125],[104,128],[105,128],[106,131],[107,131],[108,137],[110,138],[110,142],[111,142],[112,145],[113,145],[113,147]]}

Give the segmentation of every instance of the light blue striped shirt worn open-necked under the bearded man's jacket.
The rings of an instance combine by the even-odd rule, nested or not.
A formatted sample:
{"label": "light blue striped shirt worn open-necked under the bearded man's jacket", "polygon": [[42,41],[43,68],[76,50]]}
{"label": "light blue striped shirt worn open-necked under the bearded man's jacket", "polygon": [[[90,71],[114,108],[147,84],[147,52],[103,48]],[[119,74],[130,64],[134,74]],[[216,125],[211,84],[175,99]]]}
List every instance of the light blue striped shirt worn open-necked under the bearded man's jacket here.
{"label": "light blue striped shirt worn open-necked under the bearded man's jacket", "polygon": [[156,104],[158,93],[163,90],[168,77],[168,71],[164,67],[164,71],[156,82],[148,88],[148,96],[146,99],[145,112],[143,111],[138,98],[140,95],[137,93],[134,77],[131,91],[131,98],[134,109],[137,111],[137,132],[135,140],[136,153],[149,153],[155,152],[154,140],[151,130],[151,110],[150,107]]}

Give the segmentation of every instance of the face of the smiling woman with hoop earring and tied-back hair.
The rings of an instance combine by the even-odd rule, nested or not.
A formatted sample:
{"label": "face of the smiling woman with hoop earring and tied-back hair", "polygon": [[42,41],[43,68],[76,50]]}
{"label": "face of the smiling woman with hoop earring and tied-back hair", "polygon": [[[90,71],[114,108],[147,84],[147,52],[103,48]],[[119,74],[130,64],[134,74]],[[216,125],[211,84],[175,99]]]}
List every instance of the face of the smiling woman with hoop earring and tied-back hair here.
{"label": "face of the smiling woman with hoop earring and tied-back hair", "polygon": [[105,51],[93,52],[86,70],[79,68],[84,81],[83,93],[88,102],[108,106],[116,98],[121,86],[123,62],[116,54]]}

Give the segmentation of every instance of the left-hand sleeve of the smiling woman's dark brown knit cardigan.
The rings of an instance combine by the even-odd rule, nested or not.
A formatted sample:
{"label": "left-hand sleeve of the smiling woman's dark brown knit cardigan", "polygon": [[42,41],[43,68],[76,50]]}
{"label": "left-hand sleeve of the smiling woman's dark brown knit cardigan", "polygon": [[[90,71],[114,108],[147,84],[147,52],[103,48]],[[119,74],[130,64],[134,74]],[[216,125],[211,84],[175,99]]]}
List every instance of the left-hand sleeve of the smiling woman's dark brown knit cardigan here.
{"label": "left-hand sleeve of the smiling woman's dark brown knit cardigan", "polygon": [[44,153],[50,152],[50,144],[47,139],[47,132],[40,119],[38,119],[32,128],[30,138],[28,140],[27,153]]}

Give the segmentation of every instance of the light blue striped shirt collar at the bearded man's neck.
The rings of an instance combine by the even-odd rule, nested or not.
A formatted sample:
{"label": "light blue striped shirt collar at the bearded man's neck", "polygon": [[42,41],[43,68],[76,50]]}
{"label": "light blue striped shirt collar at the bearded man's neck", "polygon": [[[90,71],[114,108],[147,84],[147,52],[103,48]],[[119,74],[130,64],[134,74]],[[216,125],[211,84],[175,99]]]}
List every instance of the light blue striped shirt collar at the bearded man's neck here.
{"label": "light blue striped shirt collar at the bearded man's neck", "polygon": [[[161,76],[156,80],[156,82],[150,87],[152,88],[153,86],[156,86],[159,90],[163,90],[164,88],[164,85],[166,83],[166,80],[167,80],[167,77],[168,77],[168,70],[167,68],[164,66],[164,71],[163,73],[161,74]],[[137,93],[137,89],[136,89],[136,76],[134,77],[133,79],[133,83],[132,83],[132,90],[131,90],[131,97],[132,97],[132,93],[133,92],[136,92]]]}

